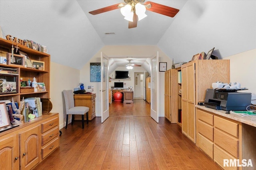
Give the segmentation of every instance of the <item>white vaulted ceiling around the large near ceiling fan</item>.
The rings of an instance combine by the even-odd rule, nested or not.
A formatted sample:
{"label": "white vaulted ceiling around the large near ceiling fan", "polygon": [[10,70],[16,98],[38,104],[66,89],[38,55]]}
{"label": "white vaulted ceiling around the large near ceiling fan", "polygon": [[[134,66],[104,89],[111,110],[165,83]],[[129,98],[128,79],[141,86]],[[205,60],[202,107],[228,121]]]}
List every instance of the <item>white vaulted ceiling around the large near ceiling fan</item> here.
{"label": "white vaulted ceiling around the large near ceiling fan", "polygon": [[[220,58],[256,47],[255,0],[151,1],[180,11],[174,18],[146,11],[148,16],[128,29],[119,9],[88,13],[123,0],[0,0],[0,26],[4,38],[12,35],[46,45],[51,61],[78,69],[106,45],[157,45],[174,63],[190,61],[212,47]],[[129,52],[120,53],[124,56]]]}

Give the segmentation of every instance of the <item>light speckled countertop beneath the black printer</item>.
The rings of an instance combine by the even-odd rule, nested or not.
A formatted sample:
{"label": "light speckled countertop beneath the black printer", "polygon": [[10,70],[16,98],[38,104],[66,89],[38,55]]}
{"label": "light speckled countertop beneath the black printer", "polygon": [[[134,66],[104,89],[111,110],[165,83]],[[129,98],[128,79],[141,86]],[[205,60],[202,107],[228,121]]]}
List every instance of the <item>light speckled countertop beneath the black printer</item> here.
{"label": "light speckled countertop beneath the black printer", "polygon": [[221,115],[223,117],[227,117],[229,119],[236,120],[241,123],[245,123],[247,125],[256,127],[256,116],[241,116],[241,115],[238,115],[235,113],[226,114],[226,111],[224,111],[224,110],[216,110],[216,109],[212,109],[212,108],[205,107],[205,106],[199,106],[199,105],[196,105],[196,107],[203,109],[205,111],[215,113],[216,115]]}

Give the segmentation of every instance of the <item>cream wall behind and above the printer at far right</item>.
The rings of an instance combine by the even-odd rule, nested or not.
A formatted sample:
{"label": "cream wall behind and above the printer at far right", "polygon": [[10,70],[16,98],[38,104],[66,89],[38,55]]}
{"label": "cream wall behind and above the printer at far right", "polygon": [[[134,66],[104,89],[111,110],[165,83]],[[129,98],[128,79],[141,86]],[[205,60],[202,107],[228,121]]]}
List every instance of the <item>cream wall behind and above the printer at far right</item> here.
{"label": "cream wall behind and above the printer at far right", "polygon": [[[256,49],[224,59],[230,59],[230,82],[240,82],[241,87],[248,88],[242,92],[250,92],[252,100],[256,99]],[[252,104],[256,104],[256,100]]]}

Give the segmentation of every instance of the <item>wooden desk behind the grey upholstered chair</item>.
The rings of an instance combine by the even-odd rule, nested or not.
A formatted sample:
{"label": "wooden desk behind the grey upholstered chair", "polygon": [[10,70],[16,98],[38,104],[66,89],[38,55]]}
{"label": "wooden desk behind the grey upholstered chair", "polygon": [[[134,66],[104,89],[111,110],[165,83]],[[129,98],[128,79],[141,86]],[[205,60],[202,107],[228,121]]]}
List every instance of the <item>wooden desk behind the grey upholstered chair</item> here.
{"label": "wooden desk behind the grey upholstered chair", "polygon": [[[88,119],[92,120],[96,116],[95,112],[95,98],[96,94],[75,94],[75,106],[86,106],[89,107]],[[82,120],[82,115],[74,115],[75,120]]]}

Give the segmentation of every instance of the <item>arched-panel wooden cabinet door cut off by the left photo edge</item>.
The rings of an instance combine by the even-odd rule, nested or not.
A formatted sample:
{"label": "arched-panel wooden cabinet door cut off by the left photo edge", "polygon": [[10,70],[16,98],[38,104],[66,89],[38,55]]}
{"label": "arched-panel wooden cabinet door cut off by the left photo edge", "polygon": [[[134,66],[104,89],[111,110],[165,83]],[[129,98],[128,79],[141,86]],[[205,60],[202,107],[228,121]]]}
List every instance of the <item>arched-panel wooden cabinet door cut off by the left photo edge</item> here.
{"label": "arched-panel wooden cabinet door cut off by the left photo edge", "polygon": [[1,137],[0,169],[18,170],[20,165],[19,162],[19,144],[17,135]]}

